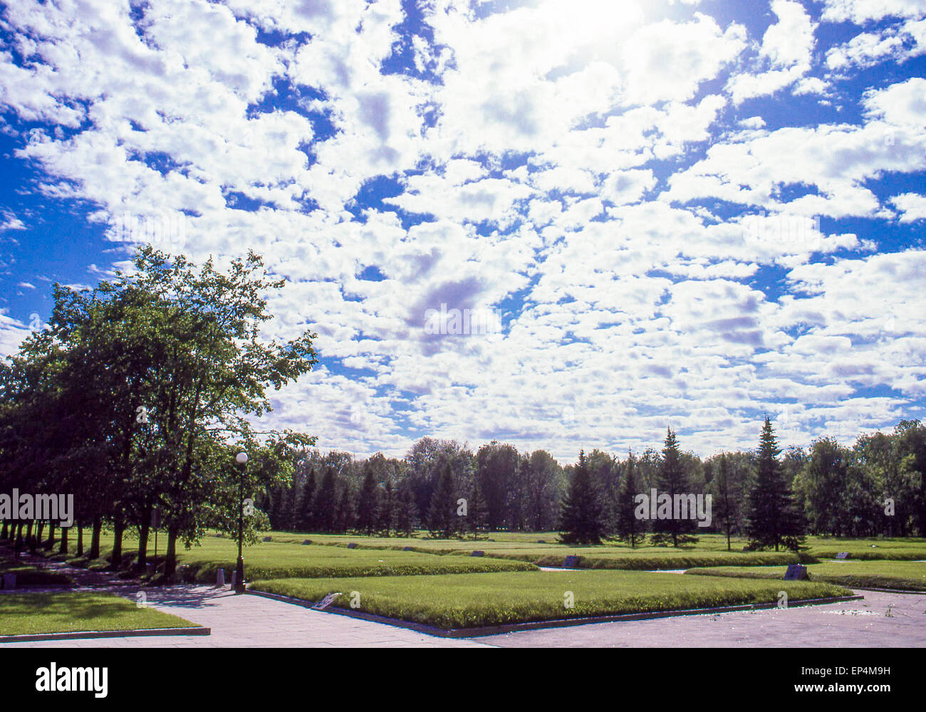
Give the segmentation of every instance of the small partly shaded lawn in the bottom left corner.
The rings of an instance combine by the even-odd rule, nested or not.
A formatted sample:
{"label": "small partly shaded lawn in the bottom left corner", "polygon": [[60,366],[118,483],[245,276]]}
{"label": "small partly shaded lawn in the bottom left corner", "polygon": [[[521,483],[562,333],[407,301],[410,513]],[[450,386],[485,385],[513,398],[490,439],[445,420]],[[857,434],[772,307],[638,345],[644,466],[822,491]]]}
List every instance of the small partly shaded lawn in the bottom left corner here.
{"label": "small partly shaded lawn in the bottom left corner", "polygon": [[111,593],[0,593],[0,635],[194,626]]}

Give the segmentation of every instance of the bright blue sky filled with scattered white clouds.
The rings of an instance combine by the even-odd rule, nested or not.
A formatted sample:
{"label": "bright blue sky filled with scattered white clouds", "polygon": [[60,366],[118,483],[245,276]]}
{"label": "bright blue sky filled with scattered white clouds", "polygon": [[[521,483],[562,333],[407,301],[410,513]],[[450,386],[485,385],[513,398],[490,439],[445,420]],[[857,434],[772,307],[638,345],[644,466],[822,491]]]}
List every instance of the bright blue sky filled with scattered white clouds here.
{"label": "bright blue sky filled with scattered white clouds", "polygon": [[0,351],[251,247],[322,447],[851,442],[924,411],[924,69],[926,0],[21,0]]}

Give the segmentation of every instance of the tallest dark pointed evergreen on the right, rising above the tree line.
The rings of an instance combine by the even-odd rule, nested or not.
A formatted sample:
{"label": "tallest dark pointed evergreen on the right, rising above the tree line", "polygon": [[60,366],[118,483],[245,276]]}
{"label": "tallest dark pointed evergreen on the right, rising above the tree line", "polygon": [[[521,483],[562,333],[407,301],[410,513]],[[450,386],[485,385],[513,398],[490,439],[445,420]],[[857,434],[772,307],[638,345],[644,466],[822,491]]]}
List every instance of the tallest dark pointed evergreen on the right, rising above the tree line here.
{"label": "tallest dark pointed evergreen on the right, rising above the tree line", "polygon": [[804,518],[795,505],[791,485],[778,460],[778,446],[769,417],[765,418],[756,458],[756,481],[749,493],[749,523],[746,535],[749,547],[794,551],[804,542]]}

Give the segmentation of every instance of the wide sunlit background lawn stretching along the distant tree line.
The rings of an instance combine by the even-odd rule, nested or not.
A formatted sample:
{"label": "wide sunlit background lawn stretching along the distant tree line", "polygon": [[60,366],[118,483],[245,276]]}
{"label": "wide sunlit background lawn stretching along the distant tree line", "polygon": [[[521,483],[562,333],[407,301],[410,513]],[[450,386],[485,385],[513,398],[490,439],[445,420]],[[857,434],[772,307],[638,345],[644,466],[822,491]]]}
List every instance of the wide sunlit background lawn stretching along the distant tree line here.
{"label": "wide sunlit background lawn stretching along the distant tree line", "polygon": [[[244,563],[250,570],[248,579],[283,577],[333,577],[360,575],[402,575],[467,571],[497,571],[519,568],[517,562],[541,566],[561,566],[565,556],[581,556],[580,568],[661,569],[718,566],[778,566],[798,561],[790,552],[745,552],[745,540],[734,538],[732,551],[726,550],[726,538],[720,534],[700,534],[698,543],[679,548],[652,546],[648,543],[631,548],[625,543],[606,542],[595,546],[577,546],[557,543],[558,532],[493,531],[486,539],[431,539],[427,532],[416,532],[414,537],[380,537],[357,534],[305,534],[287,531],[270,531],[272,541],[257,543],[244,549]],[[302,542],[310,540],[311,545]],[[76,532],[71,532],[73,546]],[[84,542],[90,541],[85,530]],[[543,542],[543,543],[541,543]],[[347,550],[348,543],[357,549]],[[157,560],[163,562],[165,537],[160,536]],[[324,545],[319,545],[324,544]],[[126,536],[123,553],[127,562],[134,556],[136,540]],[[851,558],[926,559],[926,539],[839,539],[834,537],[807,537],[808,549],[801,552],[800,561],[816,563],[814,556],[832,557],[849,552]],[[154,555],[153,537],[149,540],[149,556]],[[412,551],[403,551],[411,547]],[[73,549],[72,549],[73,550]],[[106,568],[112,550],[112,534],[104,532],[101,538],[101,558],[95,561],[80,559],[76,563],[90,568]],[[507,559],[499,563],[489,558],[466,558],[465,562],[440,560],[444,555],[468,555],[482,550],[486,557]],[[322,551],[327,551],[323,554]],[[349,554],[344,554],[348,551]],[[363,554],[366,552],[366,554]],[[41,553],[41,552],[40,552]],[[49,554],[53,558],[68,558]],[[180,548],[179,563],[189,567],[186,578],[214,581],[217,568],[226,568],[230,574],[237,551],[227,537],[206,535],[201,545],[192,549]],[[73,560],[73,556],[70,557]],[[254,567],[251,569],[251,567]]]}

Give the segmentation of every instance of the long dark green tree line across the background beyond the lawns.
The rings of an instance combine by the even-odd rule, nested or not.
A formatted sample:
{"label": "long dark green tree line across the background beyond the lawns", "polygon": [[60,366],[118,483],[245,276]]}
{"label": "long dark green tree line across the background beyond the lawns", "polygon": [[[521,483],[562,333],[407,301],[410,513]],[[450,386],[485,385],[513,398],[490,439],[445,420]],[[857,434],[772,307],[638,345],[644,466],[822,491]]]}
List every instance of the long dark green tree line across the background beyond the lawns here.
{"label": "long dark green tree line across the background beyond the lawns", "polygon": [[[745,536],[755,547],[794,548],[806,531],[835,536],[926,534],[926,428],[903,420],[890,433],[782,449],[768,418],[755,450],[701,459],[673,431],[663,448],[624,458],[594,449],[561,466],[544,450],[508,443],[473,452],[421,438],[402,458],[305,451],[293,479],[266,492],[274,529],[435,536],[563,531],[569,542],[692,543],[698,532]],[[710,494],[712,518],[640,519],[636,495]],[[462,506],[461,500],[465,501]]]}

